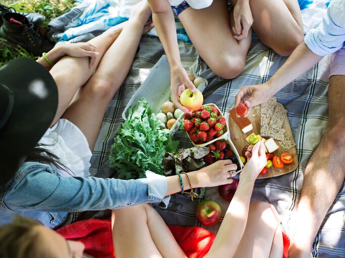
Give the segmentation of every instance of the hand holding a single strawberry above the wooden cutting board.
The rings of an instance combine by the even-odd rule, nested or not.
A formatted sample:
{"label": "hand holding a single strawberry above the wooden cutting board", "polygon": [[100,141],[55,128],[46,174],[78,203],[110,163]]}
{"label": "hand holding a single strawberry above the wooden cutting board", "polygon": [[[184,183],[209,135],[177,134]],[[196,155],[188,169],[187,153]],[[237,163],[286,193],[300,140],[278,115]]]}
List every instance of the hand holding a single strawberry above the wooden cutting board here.
{"label": "hand holding a single strawberry above the wooden cutting board", "polygon": [[240,103],[244,103],[248,107],[248,112],[245,116],[248,116],[251,108],[266,102],[270,97],[273,96],[271,92],[272,87],[264,83],[261,85],[243,86],[235,97],[235,108]]}

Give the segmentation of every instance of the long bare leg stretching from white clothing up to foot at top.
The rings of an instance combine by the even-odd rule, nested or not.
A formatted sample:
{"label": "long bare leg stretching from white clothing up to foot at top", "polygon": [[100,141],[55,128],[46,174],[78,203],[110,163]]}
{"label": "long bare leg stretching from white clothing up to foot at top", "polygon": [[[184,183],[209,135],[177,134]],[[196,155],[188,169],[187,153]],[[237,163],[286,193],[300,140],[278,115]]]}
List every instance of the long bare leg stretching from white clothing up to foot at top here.
{"label": "long bare leg stretching from white clothing up to foot at top", "polygon": [[144,28],[151,15],[146,1],[135,5],[119,37],[104,54],[96,72],[80,88],[62,118],[73,122],[85,135],[92,151],[109,102],[131,68]]}

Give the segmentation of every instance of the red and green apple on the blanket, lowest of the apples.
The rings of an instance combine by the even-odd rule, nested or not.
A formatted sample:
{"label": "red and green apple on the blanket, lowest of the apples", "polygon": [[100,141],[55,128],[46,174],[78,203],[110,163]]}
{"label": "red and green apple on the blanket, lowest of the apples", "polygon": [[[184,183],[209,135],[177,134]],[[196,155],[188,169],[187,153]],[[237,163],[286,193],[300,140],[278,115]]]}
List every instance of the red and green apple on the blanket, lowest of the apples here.
{"label": "red and green apple on the blanket, lowest of the apples", "polygon": [[219,204],[214,201],[203,201],[196,206],[195,217],[205,226],[216,224],[220,220],[221,216],[222,209]]}

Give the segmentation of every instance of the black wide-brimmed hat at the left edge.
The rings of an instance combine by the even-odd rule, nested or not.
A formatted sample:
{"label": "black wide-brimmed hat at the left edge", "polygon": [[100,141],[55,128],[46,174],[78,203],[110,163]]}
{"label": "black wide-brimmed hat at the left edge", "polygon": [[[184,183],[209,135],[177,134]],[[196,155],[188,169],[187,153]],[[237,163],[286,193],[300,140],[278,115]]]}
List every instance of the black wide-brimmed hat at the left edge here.
{"label": "black wide-brimmed hat at the left edge", "polygon": [[0,68],[0,186],[36,146],[57,107],[56,83],[38,62],[21,57]]}

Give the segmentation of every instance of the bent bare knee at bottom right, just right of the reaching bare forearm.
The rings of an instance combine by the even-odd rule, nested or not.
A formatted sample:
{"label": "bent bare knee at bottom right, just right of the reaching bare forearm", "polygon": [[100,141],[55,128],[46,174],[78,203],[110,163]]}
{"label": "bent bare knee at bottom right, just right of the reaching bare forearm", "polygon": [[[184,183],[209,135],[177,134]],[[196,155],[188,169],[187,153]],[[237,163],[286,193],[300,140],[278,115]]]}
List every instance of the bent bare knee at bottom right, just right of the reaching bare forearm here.
{"label": "bent bare knee at bottom right, just right of the reaching bare forearm", "polygon": [[277,211],[269,203],[252,202],[247,226],[234,257],[282,257],[282,255],[283,237]]}

